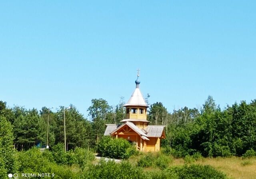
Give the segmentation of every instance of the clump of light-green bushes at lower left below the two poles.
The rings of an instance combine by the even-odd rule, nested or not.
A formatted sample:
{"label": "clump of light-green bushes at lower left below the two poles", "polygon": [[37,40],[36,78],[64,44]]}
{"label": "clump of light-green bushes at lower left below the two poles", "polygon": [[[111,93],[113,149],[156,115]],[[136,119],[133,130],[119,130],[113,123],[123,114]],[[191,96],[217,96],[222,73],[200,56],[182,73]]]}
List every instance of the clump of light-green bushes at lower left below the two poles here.
{"label": "clump of light-green bushes at lower left below the two poles", "polygon": [[80,179],[82,170],[94,160],[94,153],[84,148],[64,152],[59,144],[53,151],[31,148],[16,152],[15,158],[18,173],[54,173],[54,179]]}

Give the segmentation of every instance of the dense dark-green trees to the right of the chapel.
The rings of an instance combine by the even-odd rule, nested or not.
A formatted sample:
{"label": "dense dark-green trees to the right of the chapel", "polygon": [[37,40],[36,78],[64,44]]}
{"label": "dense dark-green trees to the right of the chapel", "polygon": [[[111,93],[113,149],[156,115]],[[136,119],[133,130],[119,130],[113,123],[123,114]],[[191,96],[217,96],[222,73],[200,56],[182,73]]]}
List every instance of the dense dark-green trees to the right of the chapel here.
{"label": "dense dark-green trees to the right of the chapel", "polygon": [[255,155],[256,100],[249,104],[242,101],[221,110],[209,96],[196,115],[190,110],[182,113],[180,122],[174,122],[168,128],[164,141],[172,155]]}

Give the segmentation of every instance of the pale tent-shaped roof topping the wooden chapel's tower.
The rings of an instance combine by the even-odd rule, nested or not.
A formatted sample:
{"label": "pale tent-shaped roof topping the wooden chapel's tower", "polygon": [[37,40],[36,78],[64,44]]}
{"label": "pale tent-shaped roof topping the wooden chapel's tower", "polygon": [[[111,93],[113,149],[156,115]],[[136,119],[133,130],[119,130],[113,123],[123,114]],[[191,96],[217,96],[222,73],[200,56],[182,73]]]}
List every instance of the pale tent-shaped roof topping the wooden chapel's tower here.
{"label": "pale tent-shaped roof topping the wooden chapel's tower", "polygon": [[132,96],[130,97],[128,102],[126,104],[124,104],[124,106],[146,106],[146,107],[148,107],[139,88],[136,88],[134,90],[134,92],[132,93]]}

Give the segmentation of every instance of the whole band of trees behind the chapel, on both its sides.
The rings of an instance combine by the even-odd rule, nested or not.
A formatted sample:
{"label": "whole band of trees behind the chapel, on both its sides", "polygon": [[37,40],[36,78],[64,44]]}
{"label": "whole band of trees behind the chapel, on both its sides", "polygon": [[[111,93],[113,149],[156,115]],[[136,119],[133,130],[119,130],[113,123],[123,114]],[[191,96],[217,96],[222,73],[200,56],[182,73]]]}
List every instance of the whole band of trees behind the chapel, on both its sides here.
{"label": "whole band of trees behind the chapel, on both its sides", "polygon": [[[118,124],[125,116],[124,101],[110,106],[104,99],[92,99],[88,118],[75,106],[65,111],[67,148],[98,148],[105,124]],[[18,150],[32,146],[46,146],[47,120],[49,116],[50,147],[64,143],[64,106],[56,112],[43,107],[27,110],[20,106],[6,107],[0,102],[0,115],[13,128],[14,145]],[[243,155],[256,150],[256,100],[249,104],[217,106],[211,96],[201,108],[181,108],[168,111],[161,102],[148,108],[151,125],[165,125],[166,139],[162,147],[173,155],[184,157],[200,153],[203,156]]]}

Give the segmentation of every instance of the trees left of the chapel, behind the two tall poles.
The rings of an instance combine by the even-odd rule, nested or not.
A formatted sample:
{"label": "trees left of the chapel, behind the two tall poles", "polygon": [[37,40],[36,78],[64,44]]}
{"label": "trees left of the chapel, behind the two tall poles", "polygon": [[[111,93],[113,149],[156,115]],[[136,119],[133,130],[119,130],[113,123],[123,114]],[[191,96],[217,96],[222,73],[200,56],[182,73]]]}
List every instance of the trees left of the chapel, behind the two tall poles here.
{"label": "trees left of the chapel, behind the two tall poles", "polygon": [[[106,100],[92,99],[92,105],[88,108],[88,119],[72,104],[68,109],[60,106],[56,112],[53,112],[46,107],[39,111],[21,106],[9,108],[6,102],[0,101],[0,116],[10,123],[14,137],[13,144],[18,151],[33,146],[46,147],[47,126],[49,127],[48,145],[52,147],[64,143],[64,110],[67,149],[76,147],[96,149],[98,141],[104,134],[105,124],[117,123],[124,118],[123,104],[124,102],[121,101],[113,107]],[[49,125],[47,125],[48,119]]]}

